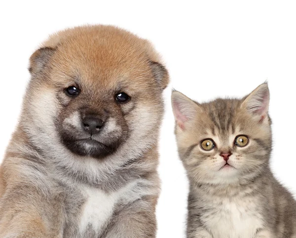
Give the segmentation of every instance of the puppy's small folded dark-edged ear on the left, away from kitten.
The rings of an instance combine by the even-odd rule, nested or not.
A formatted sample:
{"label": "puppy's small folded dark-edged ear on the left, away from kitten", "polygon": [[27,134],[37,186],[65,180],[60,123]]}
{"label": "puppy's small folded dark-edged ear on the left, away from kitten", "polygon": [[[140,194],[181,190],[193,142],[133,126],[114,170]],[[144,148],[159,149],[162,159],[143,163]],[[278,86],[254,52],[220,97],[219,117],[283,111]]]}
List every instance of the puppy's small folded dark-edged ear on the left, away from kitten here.
{"label": "puppy's small folded dark-edged ear on the left, away from kitten", "polygon": [[45,68],[54,51],[55,49],[51,47],[37,49],[30,57],[29,72],[32,75],[41,72]]}

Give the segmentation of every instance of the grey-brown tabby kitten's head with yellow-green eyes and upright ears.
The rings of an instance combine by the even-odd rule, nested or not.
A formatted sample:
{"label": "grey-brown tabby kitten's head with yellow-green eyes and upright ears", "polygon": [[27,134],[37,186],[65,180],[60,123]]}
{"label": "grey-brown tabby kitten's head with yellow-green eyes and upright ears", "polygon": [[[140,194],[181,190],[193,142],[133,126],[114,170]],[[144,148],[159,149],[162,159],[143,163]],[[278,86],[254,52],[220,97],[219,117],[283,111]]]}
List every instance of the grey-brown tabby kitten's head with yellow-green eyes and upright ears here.
{"label": "grey-brown tabby kitten's head with yellow-green eyes and upright ears", "polygon": [[246,182],[263,173],[271,151],[269,90],[199,104],[172,93],[180,157],[194,183]]}

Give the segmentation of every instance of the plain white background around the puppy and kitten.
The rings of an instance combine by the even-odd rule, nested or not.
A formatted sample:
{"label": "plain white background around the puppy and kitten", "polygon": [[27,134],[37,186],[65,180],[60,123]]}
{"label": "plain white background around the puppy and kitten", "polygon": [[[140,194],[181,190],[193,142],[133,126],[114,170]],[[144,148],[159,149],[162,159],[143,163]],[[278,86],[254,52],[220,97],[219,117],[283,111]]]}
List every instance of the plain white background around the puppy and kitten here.
{"label": "plain white background around the puppy and kitten", "polygon": [[173,134],[170,91],[197,101],[244,96],[268,79],[275,175],[296,193],[294,1],[1,1],[0,161],[17,123],[28,59],[48,34],[113,24],[151,40],[171,75],[161,130],[158,238],[185,233],[187,181]]}

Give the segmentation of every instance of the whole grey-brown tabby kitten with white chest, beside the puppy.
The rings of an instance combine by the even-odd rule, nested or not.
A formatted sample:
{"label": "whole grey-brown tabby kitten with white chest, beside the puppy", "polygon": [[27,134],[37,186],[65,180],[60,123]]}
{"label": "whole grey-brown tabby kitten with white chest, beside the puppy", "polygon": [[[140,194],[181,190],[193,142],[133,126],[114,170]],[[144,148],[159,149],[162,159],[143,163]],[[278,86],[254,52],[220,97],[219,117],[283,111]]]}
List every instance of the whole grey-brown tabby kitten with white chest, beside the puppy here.
{"label": "whole grey-brown tabby kitten with white chest, beside the puppy", "polygon": [[172,93],[188,238],[296,238],[296,201],[273,176],[269,90],[196,103]]}

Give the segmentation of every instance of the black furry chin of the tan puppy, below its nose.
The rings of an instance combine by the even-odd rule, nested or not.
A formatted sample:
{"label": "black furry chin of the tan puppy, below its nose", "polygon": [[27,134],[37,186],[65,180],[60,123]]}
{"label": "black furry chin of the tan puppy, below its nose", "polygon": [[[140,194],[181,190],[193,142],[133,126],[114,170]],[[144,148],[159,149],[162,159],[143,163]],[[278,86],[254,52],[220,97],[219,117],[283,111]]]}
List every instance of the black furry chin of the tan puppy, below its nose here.
{"label": "black furry chin of the tan puppy, below its nose", "polygon": [[63,143],[72,153],[76,155],[90,156],[96,159],[104,159],[106,156],[114,153],[118,147],[117,143],[105,145],[91,139],[64,139]]}

